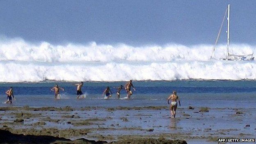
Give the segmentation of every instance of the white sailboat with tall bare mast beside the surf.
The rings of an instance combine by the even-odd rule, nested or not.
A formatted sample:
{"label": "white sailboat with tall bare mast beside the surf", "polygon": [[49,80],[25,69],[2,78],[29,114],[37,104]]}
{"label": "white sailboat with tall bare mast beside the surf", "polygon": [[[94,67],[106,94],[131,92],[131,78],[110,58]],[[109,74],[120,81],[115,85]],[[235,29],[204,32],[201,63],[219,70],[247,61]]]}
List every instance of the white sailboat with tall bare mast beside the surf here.
{"label": "white sailboat with tall bare mast beside the surf", "polygon": [[[249,54],[249,55],[233,55],[229,52],[229,29],[230,29],[230,25],[229,25],[229,21],[230,21],[230,5],[228,5],[227,9],[226,9],[226,12],[225,12],[225,15],[224,15],[224,18],[222,20],[222,25],[219,29],[219,33],[218,33],[218,36],[217,36],[217,39],[215,41],[215,46],[213,48],[213,53],[215,51],[215,48],[216,48],[216,45],[217,45],[217,41],[219,39],[219,35],[220,35],[220,32],[222,30],[222,26],[223,26],[223,23],[224,23],[224,20],[226,18],[226,15],[227,15],[227,48],[226,48],[226,57],[225,58],[221,58],[221,60],[241,60],[241,61],[253,61],[254,60],[254,54]],[[210,59],[214,59],[213,58],[213,53],[211,54],[211,57]]]}

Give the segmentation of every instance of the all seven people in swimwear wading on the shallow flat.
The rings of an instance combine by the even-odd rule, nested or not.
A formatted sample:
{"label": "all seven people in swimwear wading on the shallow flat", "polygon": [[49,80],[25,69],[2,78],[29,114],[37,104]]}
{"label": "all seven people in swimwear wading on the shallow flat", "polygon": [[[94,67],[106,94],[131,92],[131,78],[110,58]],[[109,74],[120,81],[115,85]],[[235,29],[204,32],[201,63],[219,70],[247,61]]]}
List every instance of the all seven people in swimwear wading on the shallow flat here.
{"label": "all seven people in swimwear wading on the shallow flat", "polygon": [[[84,82],[80,82],[78,84],[75,84],[75,86],[77,87],[77,98],[80,98],[80,96],[82,96],[82,86],[83,86]],[[135,87],[133,86],[133,83],[132,83],[132,80],[130,80],[129,82],[126,83],[126,85],[120,85],[119,87],[114,87],[114,88],[117,88],[117,98],[120,98],[120,91],[122,89],[126,90],[127,92],[127,98],[130,98],[130,96],[133,94],[133,92],[131,91],[131,88],[133,87],[133,90],[136,91]],[[50,90],[51,91],[54,91],[54,96],[56,99],[58,99],[58,96],[59,96],[59,90],[62,90],[64,91],[64,88],[62,87],[59,87],[59,85],[55,85],[53,88],[51,88]],[[10,87],[6,92],[5,94],[7,95],[7,101],[5,103],[12,103],[12,98],[14,98],[15,100],[15,97],[14,97],[14,92],[13,92],[13,88]],[[105,97],[104,99],[108,99],[110,97],[112,97],[112,91],[110,90],[110,87],[107,87],[102,96],[104,96],[105,94]],[[169,102],[171,100],[171,103]],[[177,103],[178,102],[178,103]],[[177,91],[173,91],[172,94],[167,98],[167,103],[170,105],[170,111],[171,111],[171,117],[174,117],[176,116],[176,110],[177,110],[177,107],[178,107],[178,104],[179,106],[181,106],[181,102],[178,98],[178,95],[177,95]]]}

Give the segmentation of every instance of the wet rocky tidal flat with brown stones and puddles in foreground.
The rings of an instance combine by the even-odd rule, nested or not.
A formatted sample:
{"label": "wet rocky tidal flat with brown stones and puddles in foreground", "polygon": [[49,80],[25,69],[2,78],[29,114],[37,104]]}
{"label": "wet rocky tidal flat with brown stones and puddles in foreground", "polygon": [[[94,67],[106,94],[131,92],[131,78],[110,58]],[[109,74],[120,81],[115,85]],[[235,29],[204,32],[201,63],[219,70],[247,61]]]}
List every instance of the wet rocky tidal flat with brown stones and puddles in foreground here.
{"label": "wet rocky tidal flat with brown stones and puddles in foreground", "polygon": [[[14,134],[113,142],[182,139],[217,143],[218,138],[255,138],[256,108],[0,107],[0,129]],[[139,141],[139,140],[137,140]]]}

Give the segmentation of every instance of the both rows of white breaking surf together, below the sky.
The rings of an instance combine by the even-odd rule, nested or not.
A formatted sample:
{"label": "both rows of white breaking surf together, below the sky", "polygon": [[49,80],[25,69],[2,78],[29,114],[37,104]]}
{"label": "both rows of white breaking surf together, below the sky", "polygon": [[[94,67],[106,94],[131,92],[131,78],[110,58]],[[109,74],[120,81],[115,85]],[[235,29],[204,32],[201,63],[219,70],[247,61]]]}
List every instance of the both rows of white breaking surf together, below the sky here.
{"label": "both rows of white breaking surf together, below the sky", "polygon": [[[231,53],[254,53],[254,46],[231,45]],[[129,46],[0,41],[0,82],[124,80],[254,80],[256,63],[210,59],[213,45]],[[224,58],[226,45],[213,57]]]}

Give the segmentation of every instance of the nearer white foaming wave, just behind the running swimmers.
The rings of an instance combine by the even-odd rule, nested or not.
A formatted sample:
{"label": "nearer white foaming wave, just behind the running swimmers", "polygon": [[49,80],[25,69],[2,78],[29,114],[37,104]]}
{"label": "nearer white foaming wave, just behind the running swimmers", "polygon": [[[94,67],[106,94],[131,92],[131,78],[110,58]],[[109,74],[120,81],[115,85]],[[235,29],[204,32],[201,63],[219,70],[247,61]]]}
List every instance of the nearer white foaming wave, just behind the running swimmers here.
{"label": "nearer white foaming wave, just behind the running swimmers", "polygon": [[0,63],[0,82],[133,80],[255,80],[254,62],[164,62],[150,64],[46,65]]}

